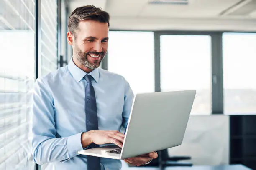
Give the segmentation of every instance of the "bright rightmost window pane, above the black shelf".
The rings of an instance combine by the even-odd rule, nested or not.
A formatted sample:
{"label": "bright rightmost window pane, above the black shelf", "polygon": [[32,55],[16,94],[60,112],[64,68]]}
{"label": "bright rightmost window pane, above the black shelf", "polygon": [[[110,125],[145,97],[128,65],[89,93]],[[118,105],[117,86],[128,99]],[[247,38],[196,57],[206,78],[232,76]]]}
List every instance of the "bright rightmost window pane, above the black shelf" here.
{"label": "bright rightmost window pane, above the black shelf", "polygon": [[224,113],[256,114],[256,33],[223,34]]}

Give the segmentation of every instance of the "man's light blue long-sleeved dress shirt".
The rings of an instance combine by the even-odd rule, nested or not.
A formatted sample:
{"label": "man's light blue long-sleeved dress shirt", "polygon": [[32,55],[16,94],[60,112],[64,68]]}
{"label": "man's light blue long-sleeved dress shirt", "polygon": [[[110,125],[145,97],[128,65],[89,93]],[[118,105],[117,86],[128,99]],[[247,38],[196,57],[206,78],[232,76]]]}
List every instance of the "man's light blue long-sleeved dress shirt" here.
{"label": "man's light blue long-sleeved dress shirt", "polygon": [[[86,132],[85,86],[87,73],[71,59],[36,80],[33,92],[32,152],[36,163],[55,170],[87,170],[81,134]],[[89,73],[94,80],[99,130],[126,128],[133,92],[120,75],[97,68]],[[120,170],[121,161],[101,158],[102,170]]]}

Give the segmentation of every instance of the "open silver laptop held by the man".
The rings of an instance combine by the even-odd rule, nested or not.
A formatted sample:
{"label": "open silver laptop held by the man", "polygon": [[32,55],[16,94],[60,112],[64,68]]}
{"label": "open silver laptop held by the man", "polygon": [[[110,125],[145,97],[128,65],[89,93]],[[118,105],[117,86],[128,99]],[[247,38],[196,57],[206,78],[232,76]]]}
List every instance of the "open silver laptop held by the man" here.
{"label": "open silver laptop held by the man", "polygon": [[195,90],[137,94],[123,147],[107,145],[78,154],[125,159],[182,144]]}

